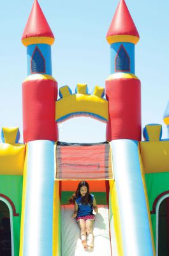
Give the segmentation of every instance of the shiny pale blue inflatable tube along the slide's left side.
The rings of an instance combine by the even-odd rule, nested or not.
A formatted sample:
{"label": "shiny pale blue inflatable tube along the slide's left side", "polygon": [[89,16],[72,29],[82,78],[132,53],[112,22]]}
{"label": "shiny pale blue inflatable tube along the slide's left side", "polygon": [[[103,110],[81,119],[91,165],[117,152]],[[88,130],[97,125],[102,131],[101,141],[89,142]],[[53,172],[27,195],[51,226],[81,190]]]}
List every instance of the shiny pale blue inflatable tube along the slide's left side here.
{"label": "shiny pale blue inflatable tube along the slide's left side", "polygon": [[27,148],[23,255],[52,255],[54,143],[31,141]]}

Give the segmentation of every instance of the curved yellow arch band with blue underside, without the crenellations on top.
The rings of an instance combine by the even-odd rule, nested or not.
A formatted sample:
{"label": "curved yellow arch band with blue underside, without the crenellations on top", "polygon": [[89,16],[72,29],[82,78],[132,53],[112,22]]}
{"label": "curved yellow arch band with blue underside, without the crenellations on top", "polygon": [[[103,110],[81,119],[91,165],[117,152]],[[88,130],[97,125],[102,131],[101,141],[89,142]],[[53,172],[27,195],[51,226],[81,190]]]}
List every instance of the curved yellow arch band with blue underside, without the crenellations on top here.
{"label": "curved yellow arch band with blue underside, without the crenellations on top", "polygon": [[108,101],[96,95],[76,93],[55,102],[55,120],[62,122],[71,115],[91,114],[108,121]]}

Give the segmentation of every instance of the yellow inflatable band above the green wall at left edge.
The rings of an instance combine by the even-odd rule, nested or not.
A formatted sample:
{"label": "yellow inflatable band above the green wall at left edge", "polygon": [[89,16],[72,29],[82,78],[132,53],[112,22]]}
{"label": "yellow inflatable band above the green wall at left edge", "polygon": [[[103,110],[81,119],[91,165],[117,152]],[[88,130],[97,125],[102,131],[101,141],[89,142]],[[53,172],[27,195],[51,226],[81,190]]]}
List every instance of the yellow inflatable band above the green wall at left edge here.
{"label": "yellow inflatable band above the green wall at left edge", "polygon": [[23,175],[26,145],[0,143],[0,175]]}

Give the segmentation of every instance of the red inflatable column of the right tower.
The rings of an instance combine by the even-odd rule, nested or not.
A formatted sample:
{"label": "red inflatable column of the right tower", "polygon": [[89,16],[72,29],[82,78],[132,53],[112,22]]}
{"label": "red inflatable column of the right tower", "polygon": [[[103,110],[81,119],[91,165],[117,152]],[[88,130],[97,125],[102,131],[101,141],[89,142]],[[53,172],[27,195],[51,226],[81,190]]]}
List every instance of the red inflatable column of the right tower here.
{"label": "red inflatable column of the right tower", "polygon": [[[111,76],[110,76],[111,77]],[[141,140],[141,89],[135,78],[107,79],[107,140]]]}

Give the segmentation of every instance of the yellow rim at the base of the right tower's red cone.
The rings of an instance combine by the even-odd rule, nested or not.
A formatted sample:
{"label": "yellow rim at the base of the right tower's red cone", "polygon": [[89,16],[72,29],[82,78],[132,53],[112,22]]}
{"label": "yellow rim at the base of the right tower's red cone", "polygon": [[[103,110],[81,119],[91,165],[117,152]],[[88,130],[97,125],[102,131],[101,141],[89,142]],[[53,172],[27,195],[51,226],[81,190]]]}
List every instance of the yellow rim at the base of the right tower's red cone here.
{"label": "yellow rim at the base of the right tower's red cone", "polygon": [[114,44],[119,42],[136,44],[139,41],[139,39],[140,39],[139,37],[131,36],[131,35],[114,35],[114,36],[108,36],[107,42],[108,44]]}

